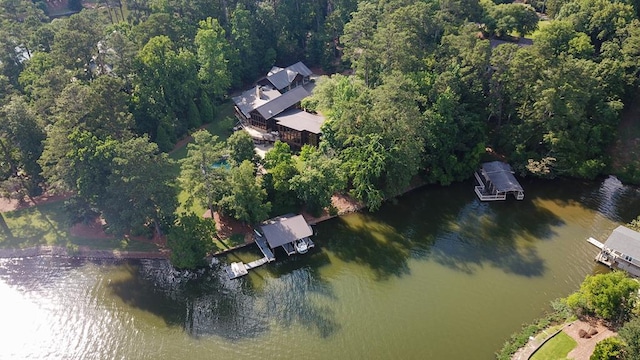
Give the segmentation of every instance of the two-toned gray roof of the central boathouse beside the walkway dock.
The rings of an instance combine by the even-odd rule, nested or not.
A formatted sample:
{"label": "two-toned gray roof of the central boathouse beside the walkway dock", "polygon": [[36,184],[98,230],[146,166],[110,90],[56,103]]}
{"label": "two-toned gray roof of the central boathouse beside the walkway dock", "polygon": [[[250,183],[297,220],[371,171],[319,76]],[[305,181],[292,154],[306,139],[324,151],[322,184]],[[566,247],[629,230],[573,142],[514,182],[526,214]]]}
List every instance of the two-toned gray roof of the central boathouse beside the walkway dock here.
{"label": "two-toned gray roof of the central boathouse beside the walkway dock", "polygon": [[267,220],[267,224],[261,225],[260,228],[272,249],[313,235],[311,227],[302,215]]}

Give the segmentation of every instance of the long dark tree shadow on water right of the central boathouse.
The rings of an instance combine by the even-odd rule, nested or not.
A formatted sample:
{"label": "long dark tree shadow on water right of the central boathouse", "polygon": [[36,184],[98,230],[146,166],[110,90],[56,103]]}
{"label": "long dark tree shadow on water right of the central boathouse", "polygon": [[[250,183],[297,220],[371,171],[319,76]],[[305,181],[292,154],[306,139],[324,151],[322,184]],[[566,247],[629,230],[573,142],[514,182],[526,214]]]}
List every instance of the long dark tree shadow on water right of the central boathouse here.
{"label": "long dark tree shadow on water right of the central boathouse", "polygon": [[320,230],[321,245],[345,261],[370,267],[377,278],[410,272],[408,259],[436,261],[473,274],[483,266],[541,276],[538,241],[553,238],[562,219],[534,202],[482,203],[467,183],[427,186],[374,214],[354,214]]}

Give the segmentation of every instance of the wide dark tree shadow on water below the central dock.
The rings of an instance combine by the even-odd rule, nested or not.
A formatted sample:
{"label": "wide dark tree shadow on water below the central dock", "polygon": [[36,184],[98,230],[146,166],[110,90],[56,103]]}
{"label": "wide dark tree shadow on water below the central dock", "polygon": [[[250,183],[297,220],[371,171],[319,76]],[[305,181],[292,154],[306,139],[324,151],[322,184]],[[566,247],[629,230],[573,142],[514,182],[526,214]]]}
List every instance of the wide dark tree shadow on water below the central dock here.
{"label": "wide dark tree shadow on water below the central dock", "polygon": [[298,323],[323,337],[340,329],[331,307],[322,305],[335,296],[308,266],[268,279],[260,290],[250,276],[229,280],[223,266],[194,274],[151,261],[131,268],[131,276],[109,286],[129,306],[157,315],[169,326],[180,326],[193,337],[254,338],[268,332],[274,322]]}

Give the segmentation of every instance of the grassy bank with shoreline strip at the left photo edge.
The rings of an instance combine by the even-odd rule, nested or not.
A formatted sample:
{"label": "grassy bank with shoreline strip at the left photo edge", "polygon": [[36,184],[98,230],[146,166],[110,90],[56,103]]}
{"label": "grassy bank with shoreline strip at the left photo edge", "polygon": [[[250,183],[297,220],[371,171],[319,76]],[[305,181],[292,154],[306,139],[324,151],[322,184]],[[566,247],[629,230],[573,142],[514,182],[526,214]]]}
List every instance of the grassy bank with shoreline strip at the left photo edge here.
{"label": "grassy bank with shoreline strip at the left photo edge", "polygon": [[64,201],[60,200],[4,213],[13,236],[0,235],[0,248],[24,249],[49,245],[66,248],[83,246],[93,250],[156,251],[158,249],[153,244],[124,238],[90,239],[71,236],[63,204]]}

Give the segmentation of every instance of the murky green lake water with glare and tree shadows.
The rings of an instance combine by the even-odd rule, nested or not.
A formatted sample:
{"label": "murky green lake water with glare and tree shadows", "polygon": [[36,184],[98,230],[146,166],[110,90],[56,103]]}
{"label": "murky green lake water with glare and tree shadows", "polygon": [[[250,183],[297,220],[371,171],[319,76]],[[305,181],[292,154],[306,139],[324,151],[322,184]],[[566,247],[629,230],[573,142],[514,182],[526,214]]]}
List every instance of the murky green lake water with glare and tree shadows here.
{"label": "murky green lake water with glare and tree shadows", "polygon": [[[525,182],[480,203],[428,187],[317,226],[316,249],[240,280],[163,261],[0,260],[1,359],[491,359],[604,269],[585,239],[640,212],[616,181]],[[10,326],[7,326],[10,324]]]}

